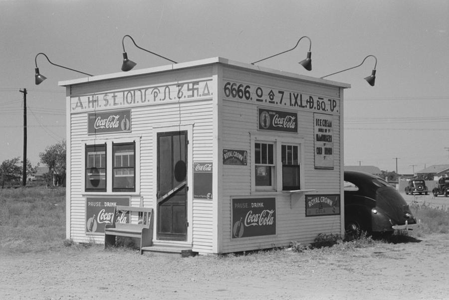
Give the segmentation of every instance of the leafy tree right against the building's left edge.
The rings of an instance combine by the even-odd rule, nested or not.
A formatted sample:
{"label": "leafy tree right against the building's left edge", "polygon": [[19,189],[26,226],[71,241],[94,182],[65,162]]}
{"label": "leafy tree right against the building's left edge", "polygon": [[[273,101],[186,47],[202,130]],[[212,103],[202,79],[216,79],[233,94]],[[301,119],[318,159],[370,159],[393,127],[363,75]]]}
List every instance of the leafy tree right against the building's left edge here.
{"label": "leafy tree right against the building's left edge", "polygon": [[48,167],[56,177],[54,185],[62,185],[66,176],[66,146],[65,140],[48,146],[44,152],[39,153],[40,161]]}

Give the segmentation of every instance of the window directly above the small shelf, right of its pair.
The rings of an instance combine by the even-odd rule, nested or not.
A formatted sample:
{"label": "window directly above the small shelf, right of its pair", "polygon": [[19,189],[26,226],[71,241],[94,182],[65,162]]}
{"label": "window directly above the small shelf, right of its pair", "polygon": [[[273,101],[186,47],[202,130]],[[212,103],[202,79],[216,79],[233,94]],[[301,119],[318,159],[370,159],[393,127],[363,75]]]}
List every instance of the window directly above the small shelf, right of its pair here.
{"label": "window directly above the small shelf, right of its pair", "polygon": [[300,169],[298,162],[298,146],[282,145],[281,146],[282,161],[282,190],[300,190]]}

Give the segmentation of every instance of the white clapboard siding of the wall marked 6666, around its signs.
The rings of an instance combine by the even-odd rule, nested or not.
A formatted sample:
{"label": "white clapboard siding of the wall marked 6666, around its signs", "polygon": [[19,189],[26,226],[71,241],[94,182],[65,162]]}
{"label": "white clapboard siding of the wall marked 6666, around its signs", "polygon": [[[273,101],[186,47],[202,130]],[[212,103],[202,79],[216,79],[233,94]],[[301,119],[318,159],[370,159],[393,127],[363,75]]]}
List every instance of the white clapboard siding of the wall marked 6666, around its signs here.
{"label": "white clapboard siding of the wall marked 6666, around its signs", "polygon": [[[224,68],[222,86],[225,82],[266,86],[273,89],[297,91],[319,97],[340,98],[340,89],[318,86],[312,83],[298,83],[295,80],[274,78],[251,72]],[[220,84],[219,84],[220,85]],[[254,96],[254,95],[251,95]],[[257,107],[272,110],[293,111],[298,115],[298,133],[259,131]],[[334,169],[319,170],[314,167],[314,113],[307,109],[289,106],[269,106],[234,98],[221,101],[221,138],[225,149],[240,149],[248,152],[246,166],[224,165],[222,170],[222,252],[246,251],[276,246],[287,246],[292,241],[313,242],[320,233],[341,232],[341,216],[305,217],[305,194],[340,194],[340,116],[333,112],[333,154]],[[260,196],[251,194],[251,135],[294,138],[303,141],[302,162],[304,187],[315,191],[299,194],[290,201],[290,194],[282,192],[267,193],[266,197],[276,199],[276,235],[251,238],[231,238],[231,199],[233,197]],[[343,208],[341,208],[343,209]]]}

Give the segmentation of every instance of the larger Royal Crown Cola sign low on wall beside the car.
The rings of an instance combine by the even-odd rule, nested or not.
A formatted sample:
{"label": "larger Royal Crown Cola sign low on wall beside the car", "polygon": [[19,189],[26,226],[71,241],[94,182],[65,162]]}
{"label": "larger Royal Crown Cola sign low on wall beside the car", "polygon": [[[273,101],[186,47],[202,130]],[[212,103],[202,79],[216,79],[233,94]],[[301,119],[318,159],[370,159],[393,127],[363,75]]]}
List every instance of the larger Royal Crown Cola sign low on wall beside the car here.
{"label": "larger Royal Crown Cola sign low on wall beside the car", "polygon": [[340,195],[306,195],[306,217],[340,215]]}

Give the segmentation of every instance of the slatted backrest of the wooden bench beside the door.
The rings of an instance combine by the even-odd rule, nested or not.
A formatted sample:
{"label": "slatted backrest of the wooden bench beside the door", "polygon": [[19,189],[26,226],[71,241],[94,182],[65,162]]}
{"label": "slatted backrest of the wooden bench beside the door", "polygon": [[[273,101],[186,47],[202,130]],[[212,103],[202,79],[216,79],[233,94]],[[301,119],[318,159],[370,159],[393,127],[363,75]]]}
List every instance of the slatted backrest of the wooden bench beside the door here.
{"label": "slatted backrest of the wooden bench beside the door", "polygon": [[[121,217],[128,212],[128,218],[126,222],[120,222]],[[131,216],[133,212],[138,213],[138,223],[131,223]],[[135,207],[135,206],[123,206],[117,205],[114,209],[114,215],[112,217],[112,224],[115,225],[116,228],[150,228],[151,217],[153,214],[153,209],[148,207]]]}

